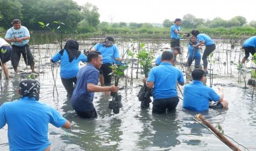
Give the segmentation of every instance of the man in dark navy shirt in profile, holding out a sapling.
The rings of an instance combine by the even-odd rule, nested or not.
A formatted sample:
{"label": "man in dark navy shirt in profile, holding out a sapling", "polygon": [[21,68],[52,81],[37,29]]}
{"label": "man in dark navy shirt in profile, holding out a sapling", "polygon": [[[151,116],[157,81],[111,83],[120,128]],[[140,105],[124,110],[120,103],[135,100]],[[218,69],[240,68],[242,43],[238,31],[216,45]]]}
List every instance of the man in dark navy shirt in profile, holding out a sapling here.
{"label": "man in dark navy shirt in profile, holding out a sapling", "polygon": [[102,65],[102,56],[99,51],[91,51],[86,66],[80,68],[77,74],[77,84],[71,97],[71,104],[81,118],[97,118],[97,112],[92,103],[94,92],[117,92],[118,86],[98,86],[99,69]]}

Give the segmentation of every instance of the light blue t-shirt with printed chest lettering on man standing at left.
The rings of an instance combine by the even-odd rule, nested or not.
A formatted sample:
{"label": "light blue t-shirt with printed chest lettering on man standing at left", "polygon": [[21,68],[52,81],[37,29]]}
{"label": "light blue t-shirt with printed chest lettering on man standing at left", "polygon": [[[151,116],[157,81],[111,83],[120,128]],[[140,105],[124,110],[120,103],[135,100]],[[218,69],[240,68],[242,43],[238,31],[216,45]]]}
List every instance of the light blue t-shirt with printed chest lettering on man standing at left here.
{"label": "light blue t-shirt with printed chest lettering on man standing at left", "polygon": [[[21,26],[19,28],[19,30],[15,30],[14,27],[12,27],[12,29],[9,28],[9,30],[6,32],[5,38],[12,39],[14,37],[18,37],[18,38],[30,37],[28,28],[26,28],[25,26]],[[21,47],[21,46],[27,44],[28,42],[29,42],[29,40],[23,40],[22,43],[12,42],[12,44]]]}

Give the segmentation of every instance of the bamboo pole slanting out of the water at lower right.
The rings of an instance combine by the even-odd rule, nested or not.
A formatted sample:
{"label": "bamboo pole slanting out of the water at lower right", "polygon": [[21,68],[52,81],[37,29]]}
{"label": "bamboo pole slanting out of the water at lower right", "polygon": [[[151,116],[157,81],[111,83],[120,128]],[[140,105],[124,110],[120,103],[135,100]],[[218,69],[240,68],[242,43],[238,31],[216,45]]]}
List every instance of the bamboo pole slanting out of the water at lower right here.
{"label": "bamboo pole slanting out of the water at lower right", "polygon": [[241,149],[239,149],[237,146],[235,146],[235,144],[233,144],[232,142],[228,141],[227,138],[221,134],[221,132],[217,129],[215,129],[215,127],[213,125],[211,125],[211,123],[209,123],[209,121],[207,121],[203,115],[201,114],[197,114],[195,115],[195,119],[203,122],[206,126],[208,126],[213,132],[214,134],[222,141],[224,142],[228,147],[230,147],[232,150],[237,150],[237,151],[241,151]]}

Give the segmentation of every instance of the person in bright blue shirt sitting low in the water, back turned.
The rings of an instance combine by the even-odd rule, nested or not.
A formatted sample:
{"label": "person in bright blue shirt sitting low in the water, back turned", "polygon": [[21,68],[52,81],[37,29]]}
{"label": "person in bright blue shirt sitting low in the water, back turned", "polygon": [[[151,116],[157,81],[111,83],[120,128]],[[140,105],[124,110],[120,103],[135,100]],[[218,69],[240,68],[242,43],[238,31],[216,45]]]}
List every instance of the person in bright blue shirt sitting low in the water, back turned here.
{"label": "person in bright blue shirt sitting low in the water, back turned", "polygon": [[[193,83],[186,84],[183,91],[183,108],[191,111],[207,111],[210,108],[227,108],[228,102],[224,100],[223,88],[220,86],[219,95],[203,83],[206,81],[205,72],[202,69],[192,71]],[[209,106],[209,102],[215,103]]]}

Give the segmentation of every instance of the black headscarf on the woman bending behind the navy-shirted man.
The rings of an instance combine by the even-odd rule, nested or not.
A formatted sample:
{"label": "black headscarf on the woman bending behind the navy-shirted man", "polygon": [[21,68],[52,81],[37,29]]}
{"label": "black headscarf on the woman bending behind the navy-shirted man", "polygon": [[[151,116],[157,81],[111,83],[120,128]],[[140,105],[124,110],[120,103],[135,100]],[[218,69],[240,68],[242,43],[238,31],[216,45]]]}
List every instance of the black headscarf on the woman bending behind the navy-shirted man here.
{"label": "black headscarf on the woman bending behind the navy-shirted man", "polygon": [[[68,53],[69,62],[72,62],[74,58],[77,59],[79,57],[79,55],[81,54],[81,51],[78,50],[79,44],[78,44],[77,40],[69,39],[67,41],[67,43],[65,44],[64,49]],[[61,55],[63,55],[64,49],[59,51],[59,53]]]}

